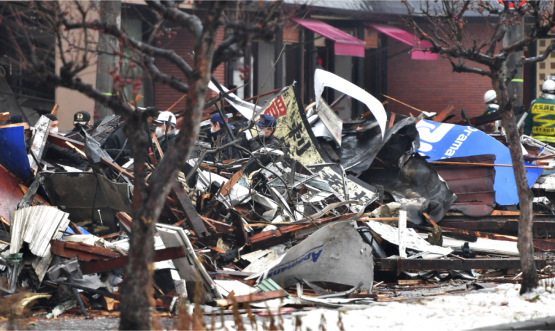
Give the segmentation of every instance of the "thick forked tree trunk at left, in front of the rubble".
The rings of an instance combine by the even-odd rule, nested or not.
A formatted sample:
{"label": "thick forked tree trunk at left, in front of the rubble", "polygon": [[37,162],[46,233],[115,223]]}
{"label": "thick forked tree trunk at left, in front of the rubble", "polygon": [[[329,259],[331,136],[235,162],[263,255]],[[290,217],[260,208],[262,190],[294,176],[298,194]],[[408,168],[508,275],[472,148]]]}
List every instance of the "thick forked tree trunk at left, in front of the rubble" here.
{"label": "thick forked tree trunk at left, in front of the rubble", "polygon": [[173,145],[164,154],[151,175],[151,185],[144,183],[148,135],[142,129],[141,114],[136,114],[128,124],[127,134],[133,142],[135,158],[135,190],[133,191],[133,222],[130,250],[126,265],[126,279],[121,292],[121,320],[119,330],[150,330],[150,300],[153,297],[152,265],[154,256],[154,229],[166,197],[179,170],[189,159],[198,136],[200,118],[203,114],[208,83],[212,77],[212,55],[216,30],[221,24],[221,12],[225,0],[212,1],[203,22],[203,32],[195,47],[195,80],[189,83],[187,104],[183,113],[182,127]]}

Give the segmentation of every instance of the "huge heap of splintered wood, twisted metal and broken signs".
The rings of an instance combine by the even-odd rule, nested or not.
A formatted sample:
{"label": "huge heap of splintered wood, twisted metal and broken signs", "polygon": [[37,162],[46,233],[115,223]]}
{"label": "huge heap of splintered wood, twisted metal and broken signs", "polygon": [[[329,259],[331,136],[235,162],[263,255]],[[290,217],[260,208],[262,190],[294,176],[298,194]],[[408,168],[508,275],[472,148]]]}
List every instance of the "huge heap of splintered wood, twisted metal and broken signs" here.
{"label": "huge heap of splintered wood, twisted metal and broken signs", "polygon": [[[294,86],[263,107],[223,88],[230,107],[219,111],[233,114],[236,133],[268,114],[280,146],[232,144],[240,157],[221,160],[198,141],[156,224],[159,311],[174,314],[180,300],[200,295],[199,278],[205,314],[228,312],[233,301],[259,313],[352,307],[520,281],[509,149],[502,132],[476,128],[498,115],[449,124],[447,107],[406,117],[331,73],[316,71],[315,82],[318,102],[306,108]],[[370,111],[340,120],[321,98],[324,87]],[[112,314],[126,276],[135,178],[129,153],[104,147],[124,122],[110,116],[66,136],[49,123],[0,126],[0,300],[26,293],[25,303],[42,307],[31,312],[46,318]],[[536,264],[540,277],[552,277],[555,150],[526,136],[522,143],[536,163],[527,163],[538,196]],[[153,146],[160,149],[155,135]],[[162,158],[153,153],[148,168]]]}

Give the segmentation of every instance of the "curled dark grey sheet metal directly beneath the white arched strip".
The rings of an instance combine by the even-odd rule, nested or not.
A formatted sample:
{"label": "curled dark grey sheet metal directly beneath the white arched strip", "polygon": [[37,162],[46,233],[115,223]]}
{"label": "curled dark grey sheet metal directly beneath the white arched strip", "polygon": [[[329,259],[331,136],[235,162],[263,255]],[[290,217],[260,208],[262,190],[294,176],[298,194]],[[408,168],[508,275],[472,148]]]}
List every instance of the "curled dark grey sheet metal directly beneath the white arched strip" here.
{"label": "curled dark grey sheet metal directly beneath the white arched strip", "polygon": [[[368,140],[362,140],[356,136],[346,136],[343,138],[341,148],[336,150],[341,159],[341,165],[358,175],[370,168],[375,157],[384,149],[384,146],[389,158],[399,159],[402,154],[411,150],[413,141],[418,138],[415,123],[416,118],[404,118],[395,123],[393,127],[386,129],[383,139],[379,134]],[[396,138],[393,138],[390,143],[392,137]],[[388,145],[391,145],[391,148],[388,148]],[[418,148],[418,146],[416,147]]]}

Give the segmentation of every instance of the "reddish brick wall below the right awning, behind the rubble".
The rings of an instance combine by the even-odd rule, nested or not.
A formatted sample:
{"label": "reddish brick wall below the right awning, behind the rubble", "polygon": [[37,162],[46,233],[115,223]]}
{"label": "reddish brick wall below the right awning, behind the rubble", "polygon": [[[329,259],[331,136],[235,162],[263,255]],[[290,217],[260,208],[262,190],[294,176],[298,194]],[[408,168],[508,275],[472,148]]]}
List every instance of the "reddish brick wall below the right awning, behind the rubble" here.
{"label": "reddish brick wall below the right awning, behind the rubble", "polygon": [[[484,24],[468,26],[470,33],[478,35],[484,30]],[[388,55],[394,55],[408,46],[398,44],[388,38]],[[393,51],[390,51],[393,49]],[[467,62],[470,65],[470,62]],[[472,64],[474,66],[474,64]],[[476,65],[477,68],[483,68]],[[423,111],[439,112],[448,105],[456,109],[456,117],[461,120],[461,109],[469,117],[479,116],[484,112],[484,93],[492,89],[490,78],[476,73],[454,73],[449,60],[438,56],[437,61],[411,60],[411,55],[402,53],[391,57],[387,64],[387,95]],[[527,82],[524,82],[527,84]],[[418,111],[390,100],[388,111],[398,114],[418,116]]]}

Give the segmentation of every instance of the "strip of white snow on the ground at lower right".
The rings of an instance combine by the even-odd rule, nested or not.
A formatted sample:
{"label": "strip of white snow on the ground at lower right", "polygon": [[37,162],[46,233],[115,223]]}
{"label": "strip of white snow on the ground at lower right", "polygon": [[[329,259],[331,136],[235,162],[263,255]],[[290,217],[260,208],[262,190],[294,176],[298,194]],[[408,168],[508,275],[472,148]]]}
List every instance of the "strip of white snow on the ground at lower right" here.
{"label": "strip of white snow on the ground at lower right", "polygon": [[[550,283],[553,283],[550,282]],[[317,309],[284,316],[284,330],[295,330],[296,316],[302,330],[320,330],[322,315],[326,330],[469,330],[555,315],[555,288],[538,287],[520,296],[520,285],[503,284],[466,294],[422,298],[412,302],[375,303],[364,310]],[[248,325],[250,326],[250,325]]]}

